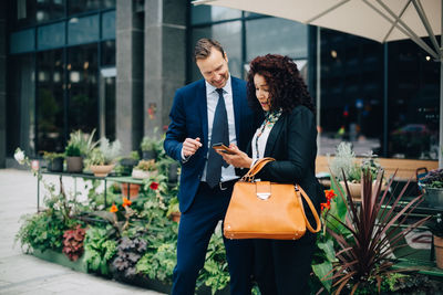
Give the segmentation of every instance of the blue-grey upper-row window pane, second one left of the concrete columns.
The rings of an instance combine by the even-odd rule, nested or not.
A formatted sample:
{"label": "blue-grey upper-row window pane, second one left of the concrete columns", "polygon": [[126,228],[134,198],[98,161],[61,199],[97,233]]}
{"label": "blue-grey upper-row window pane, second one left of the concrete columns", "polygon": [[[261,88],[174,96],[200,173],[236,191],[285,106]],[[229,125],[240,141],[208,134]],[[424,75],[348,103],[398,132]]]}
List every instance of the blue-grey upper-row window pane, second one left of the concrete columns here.
{"label": "blue-grey upper-row window pane, second one left of the concrete columns", "polygon": [[68,23],[69,44],[91,43],[97,41],[99,38],[99,15],[70,19]]}

